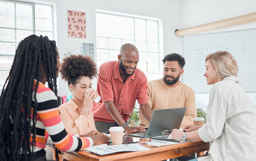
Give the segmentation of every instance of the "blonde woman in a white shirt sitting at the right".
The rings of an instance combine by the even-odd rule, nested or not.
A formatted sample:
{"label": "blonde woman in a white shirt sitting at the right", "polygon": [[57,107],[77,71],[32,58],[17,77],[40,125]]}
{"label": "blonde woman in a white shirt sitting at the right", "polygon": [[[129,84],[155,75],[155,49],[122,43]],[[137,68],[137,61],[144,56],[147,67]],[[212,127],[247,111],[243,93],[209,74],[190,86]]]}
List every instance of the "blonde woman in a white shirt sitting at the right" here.
{"label": "blonde woman in a white shirt sitting at the right", "polygon": [[229,52],[205,58],[207,85],[213,85],[207,107],[207,123],[174,129],[174,140],[210,142],[209,156],[195,160],[255,160],[256,107],[236,81],[238,67]]}

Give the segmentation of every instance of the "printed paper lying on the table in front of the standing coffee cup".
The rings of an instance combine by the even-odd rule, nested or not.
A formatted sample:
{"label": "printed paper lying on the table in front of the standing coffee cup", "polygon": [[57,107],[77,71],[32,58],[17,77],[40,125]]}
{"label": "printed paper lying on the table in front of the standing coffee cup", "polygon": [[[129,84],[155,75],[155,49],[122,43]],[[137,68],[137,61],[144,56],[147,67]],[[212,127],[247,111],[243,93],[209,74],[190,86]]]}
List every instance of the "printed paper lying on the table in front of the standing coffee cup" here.
{"label": "printed paper lying on the table in front of the standing coffee cup", "polygon": [[86,150],[98,154],[100,156],[104,156],[106,154],[113,154],[117,152],[135,152],[150,150],[150,148],[145,148],[144,146],[139,146],[137,144],[121,144],[114,146],[90,147],[86,148]]}

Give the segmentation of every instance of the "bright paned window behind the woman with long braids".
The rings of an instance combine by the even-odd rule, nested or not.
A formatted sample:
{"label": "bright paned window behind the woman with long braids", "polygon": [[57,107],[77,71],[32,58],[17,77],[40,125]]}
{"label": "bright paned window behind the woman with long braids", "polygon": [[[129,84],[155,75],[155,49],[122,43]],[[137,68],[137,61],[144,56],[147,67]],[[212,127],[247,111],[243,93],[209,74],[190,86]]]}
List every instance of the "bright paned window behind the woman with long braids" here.
{"label": "bright paned window behind the woman with long braids", "polygon": [[53,40],[53,6],[0,0],[0,90],[19,42],[31,34]]}

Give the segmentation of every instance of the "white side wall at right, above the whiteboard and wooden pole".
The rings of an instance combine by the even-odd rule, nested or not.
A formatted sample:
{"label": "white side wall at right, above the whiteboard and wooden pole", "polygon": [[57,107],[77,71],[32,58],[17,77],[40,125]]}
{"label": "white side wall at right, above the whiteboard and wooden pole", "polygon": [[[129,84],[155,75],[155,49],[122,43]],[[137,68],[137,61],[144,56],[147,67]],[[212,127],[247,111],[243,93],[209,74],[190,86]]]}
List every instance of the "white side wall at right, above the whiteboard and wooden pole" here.
{"label": "white side wall at right, above the whiteboard and wooden pole", "polygon": [[[181,4],[181,27],[189,28],[255,11],[255,0],[183,0]],[[211,32],[242,30],[255,27],[256,21]]]}

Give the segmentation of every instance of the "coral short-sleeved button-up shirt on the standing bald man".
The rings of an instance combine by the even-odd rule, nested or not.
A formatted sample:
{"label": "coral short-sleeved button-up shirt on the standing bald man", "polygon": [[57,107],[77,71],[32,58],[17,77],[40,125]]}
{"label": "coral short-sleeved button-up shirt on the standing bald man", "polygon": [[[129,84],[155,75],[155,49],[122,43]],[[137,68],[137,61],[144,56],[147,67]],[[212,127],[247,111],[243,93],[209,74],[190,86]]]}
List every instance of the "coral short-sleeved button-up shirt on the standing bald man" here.
{"label": "coral short-sleeved button-up shirt on the standing bald man", "polygon": [[148,103],[148,85],[145,74],[135,69],[125,83],[119,72],[119,61],[106,62],[100,66],[98,73],[97,91],[101,96],[99,103],[94,103],[92,112],[94,121],[115,122],[104,102],[113,101],[125,121],[133,112],[135,101],[139,104]]}

